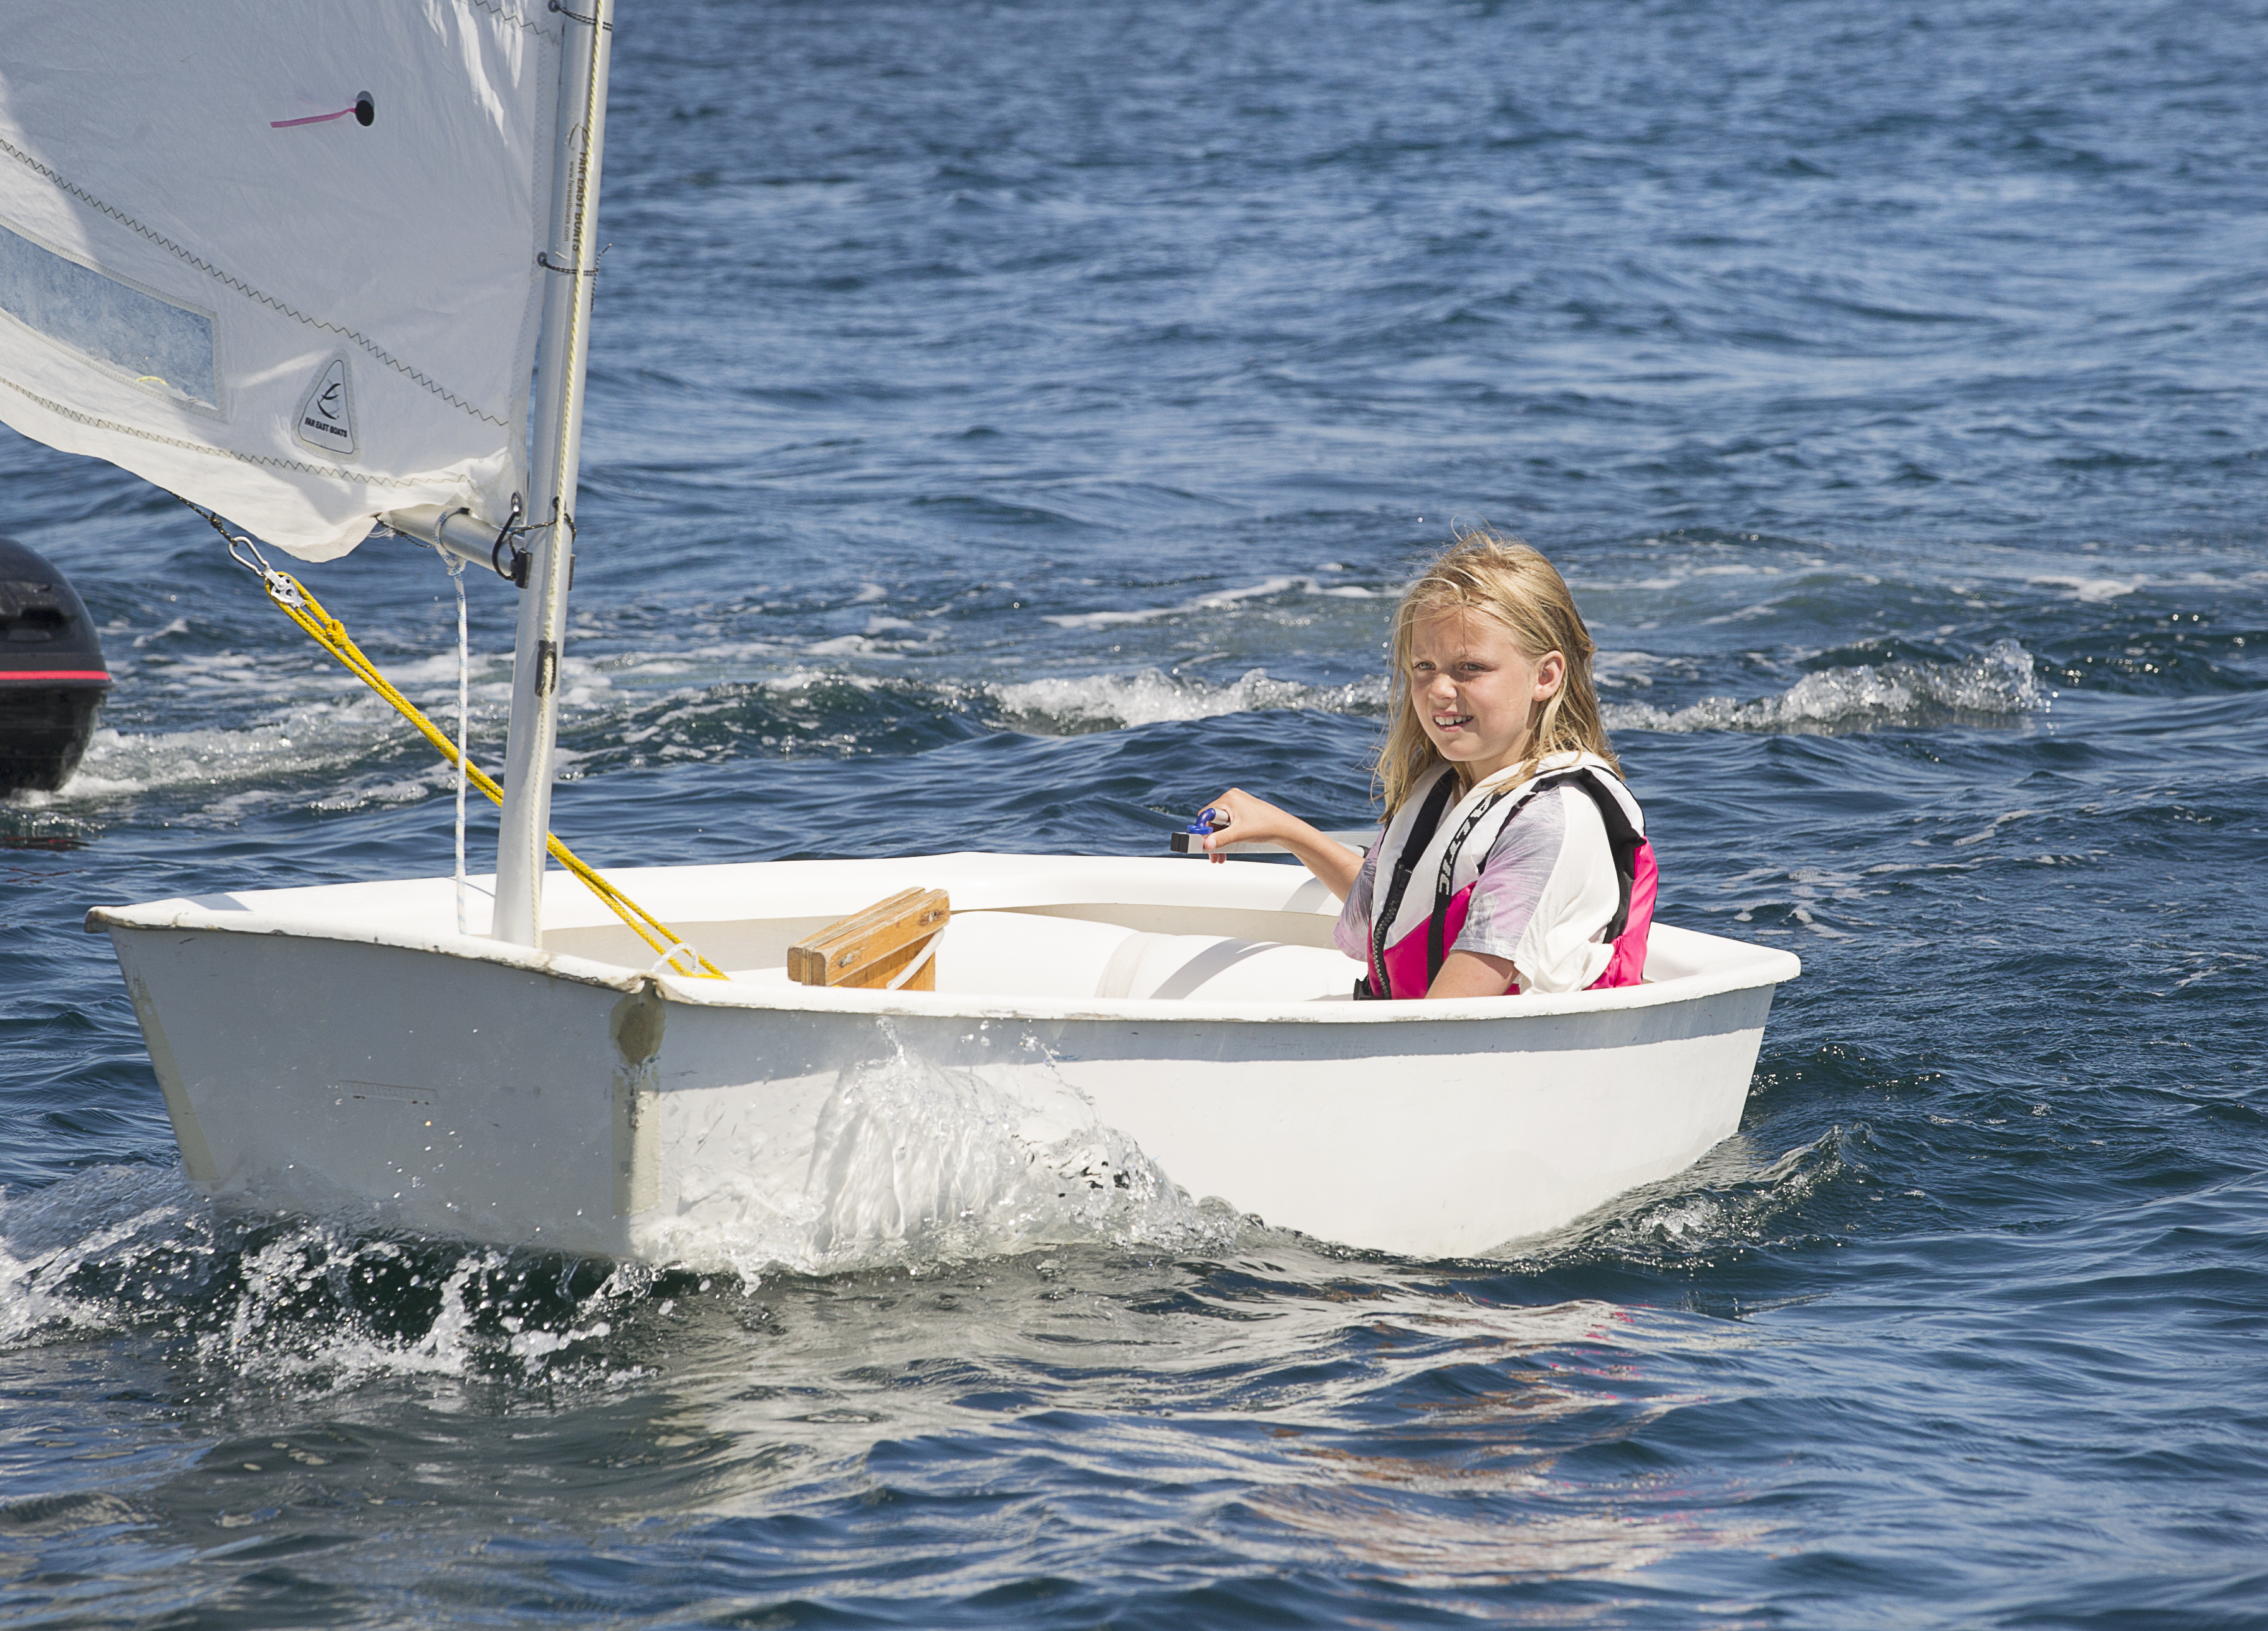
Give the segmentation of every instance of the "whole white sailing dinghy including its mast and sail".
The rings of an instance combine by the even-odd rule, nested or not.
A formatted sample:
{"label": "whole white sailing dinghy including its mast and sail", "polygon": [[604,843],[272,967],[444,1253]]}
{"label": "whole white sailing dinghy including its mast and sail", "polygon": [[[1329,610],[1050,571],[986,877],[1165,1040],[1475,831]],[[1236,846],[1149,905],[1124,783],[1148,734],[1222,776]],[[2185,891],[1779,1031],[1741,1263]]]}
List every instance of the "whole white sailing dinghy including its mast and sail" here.
{"label": "whole white sailing dinghy including its mast and sail", "polygon": [[[1034,1159],[1100,1125],[1193,1195],[1436,1257],[1551,1229],[1735,1130],[1799,964],[1672,926],[1637,987],[1354,1003],[1336,903],[1279,864],[617,876],[696,971],[547,871],[610,32],[612,0],[11,20],[0,420],[304,560],[379,524],[524,560],[497,873],[469,919],[451,878],[88,914],[202,1193],[703,1261],[826,1211],[846,1100],[914,1059]],[[898,889],[950,896],[934,989],[787,978],[789,946]]]}

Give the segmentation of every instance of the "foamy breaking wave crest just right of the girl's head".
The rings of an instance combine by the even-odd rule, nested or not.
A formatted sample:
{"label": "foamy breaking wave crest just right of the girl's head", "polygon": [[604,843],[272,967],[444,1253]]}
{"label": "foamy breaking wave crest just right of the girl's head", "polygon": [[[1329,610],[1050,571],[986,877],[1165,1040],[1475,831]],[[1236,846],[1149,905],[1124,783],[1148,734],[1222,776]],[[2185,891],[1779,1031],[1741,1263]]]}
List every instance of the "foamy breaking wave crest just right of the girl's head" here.
{"label": "foamy breaking wave crest just right of the girl's head", "polygon": [[1941,719],[2009,719],[2048,703],[2032,653],[2000,640],[1962,662],[1860,662],[1805,674],[1776,696],[1703,696],[1678,710],[1606,703],[1608,730],[1835,733]]}

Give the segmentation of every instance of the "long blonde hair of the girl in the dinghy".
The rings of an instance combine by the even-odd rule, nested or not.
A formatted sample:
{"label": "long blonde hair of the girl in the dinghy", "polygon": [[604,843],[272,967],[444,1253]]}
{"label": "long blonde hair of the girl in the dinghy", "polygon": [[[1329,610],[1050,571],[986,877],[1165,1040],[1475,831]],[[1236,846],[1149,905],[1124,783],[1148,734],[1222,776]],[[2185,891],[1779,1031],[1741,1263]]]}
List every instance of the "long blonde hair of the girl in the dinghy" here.
{"label": "long blonde hair of the girl in the dinghy", "polygon": [[[1517,538],[1467,533],[1417,574],[1417,581],[1404,590],[1402,606],[1395,608],[1393,667],[1386,676],[1388,726],[1377,760],[1388,821],[1427,771],[1442,762],[1433,740],[1417,724],[1417,708],[1411,699],[1411,644],[1417,624],[1442,612],[1479,612],[1495,619],[1529,660],[1542,660],[1558,651],[1567,662],[1567,676],[1558,692],[1542,703],[1542,715],[1531,721],[1529,758],[1520,767],[1522,774],[1547,753],[1572,749],[1597,753],[1617,774],[1622,771],[1615,751],[1606,744],[1599,692],[1590,683],[1590,658],[1597,644],[1583,626],[1583,612],[1574,608],[1567,581]],[[1458,767],[1461,778],[1463,774]]]}

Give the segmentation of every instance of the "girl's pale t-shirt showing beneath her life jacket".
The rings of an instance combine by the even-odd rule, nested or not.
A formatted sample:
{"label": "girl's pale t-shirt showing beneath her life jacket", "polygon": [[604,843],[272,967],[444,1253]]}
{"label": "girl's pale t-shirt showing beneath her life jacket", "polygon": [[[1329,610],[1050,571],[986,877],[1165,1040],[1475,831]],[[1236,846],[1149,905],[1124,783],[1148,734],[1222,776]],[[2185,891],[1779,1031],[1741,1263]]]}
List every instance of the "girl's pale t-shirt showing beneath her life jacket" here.
{"label": "girl's pale t-shirt showing beneath her life jacket", "polygon": [[[1331,932],[1363,964],[1381,848],[1372,844],[1363,857]],[[1411,878],[1408,887],[1424,889],[1431,880]],[[1497,833],[1449,950],[1508,957],[1522,991],[1581,991],[1615,955],[1603,935],[1617,910],[1622,880],[1599,805],[1581,787],[1547,787]]]}

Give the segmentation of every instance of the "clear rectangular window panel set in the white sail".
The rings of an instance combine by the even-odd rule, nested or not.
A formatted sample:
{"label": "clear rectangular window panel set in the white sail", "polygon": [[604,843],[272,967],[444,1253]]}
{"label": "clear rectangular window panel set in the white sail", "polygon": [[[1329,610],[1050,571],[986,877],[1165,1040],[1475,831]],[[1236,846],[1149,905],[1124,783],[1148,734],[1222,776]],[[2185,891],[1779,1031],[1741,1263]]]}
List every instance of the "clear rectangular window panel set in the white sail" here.
{"label": "clear rectangular window panel set in the white sail", "polygon": [[141,386],[218,408],[213,320],[0,227],[0,311]]}

